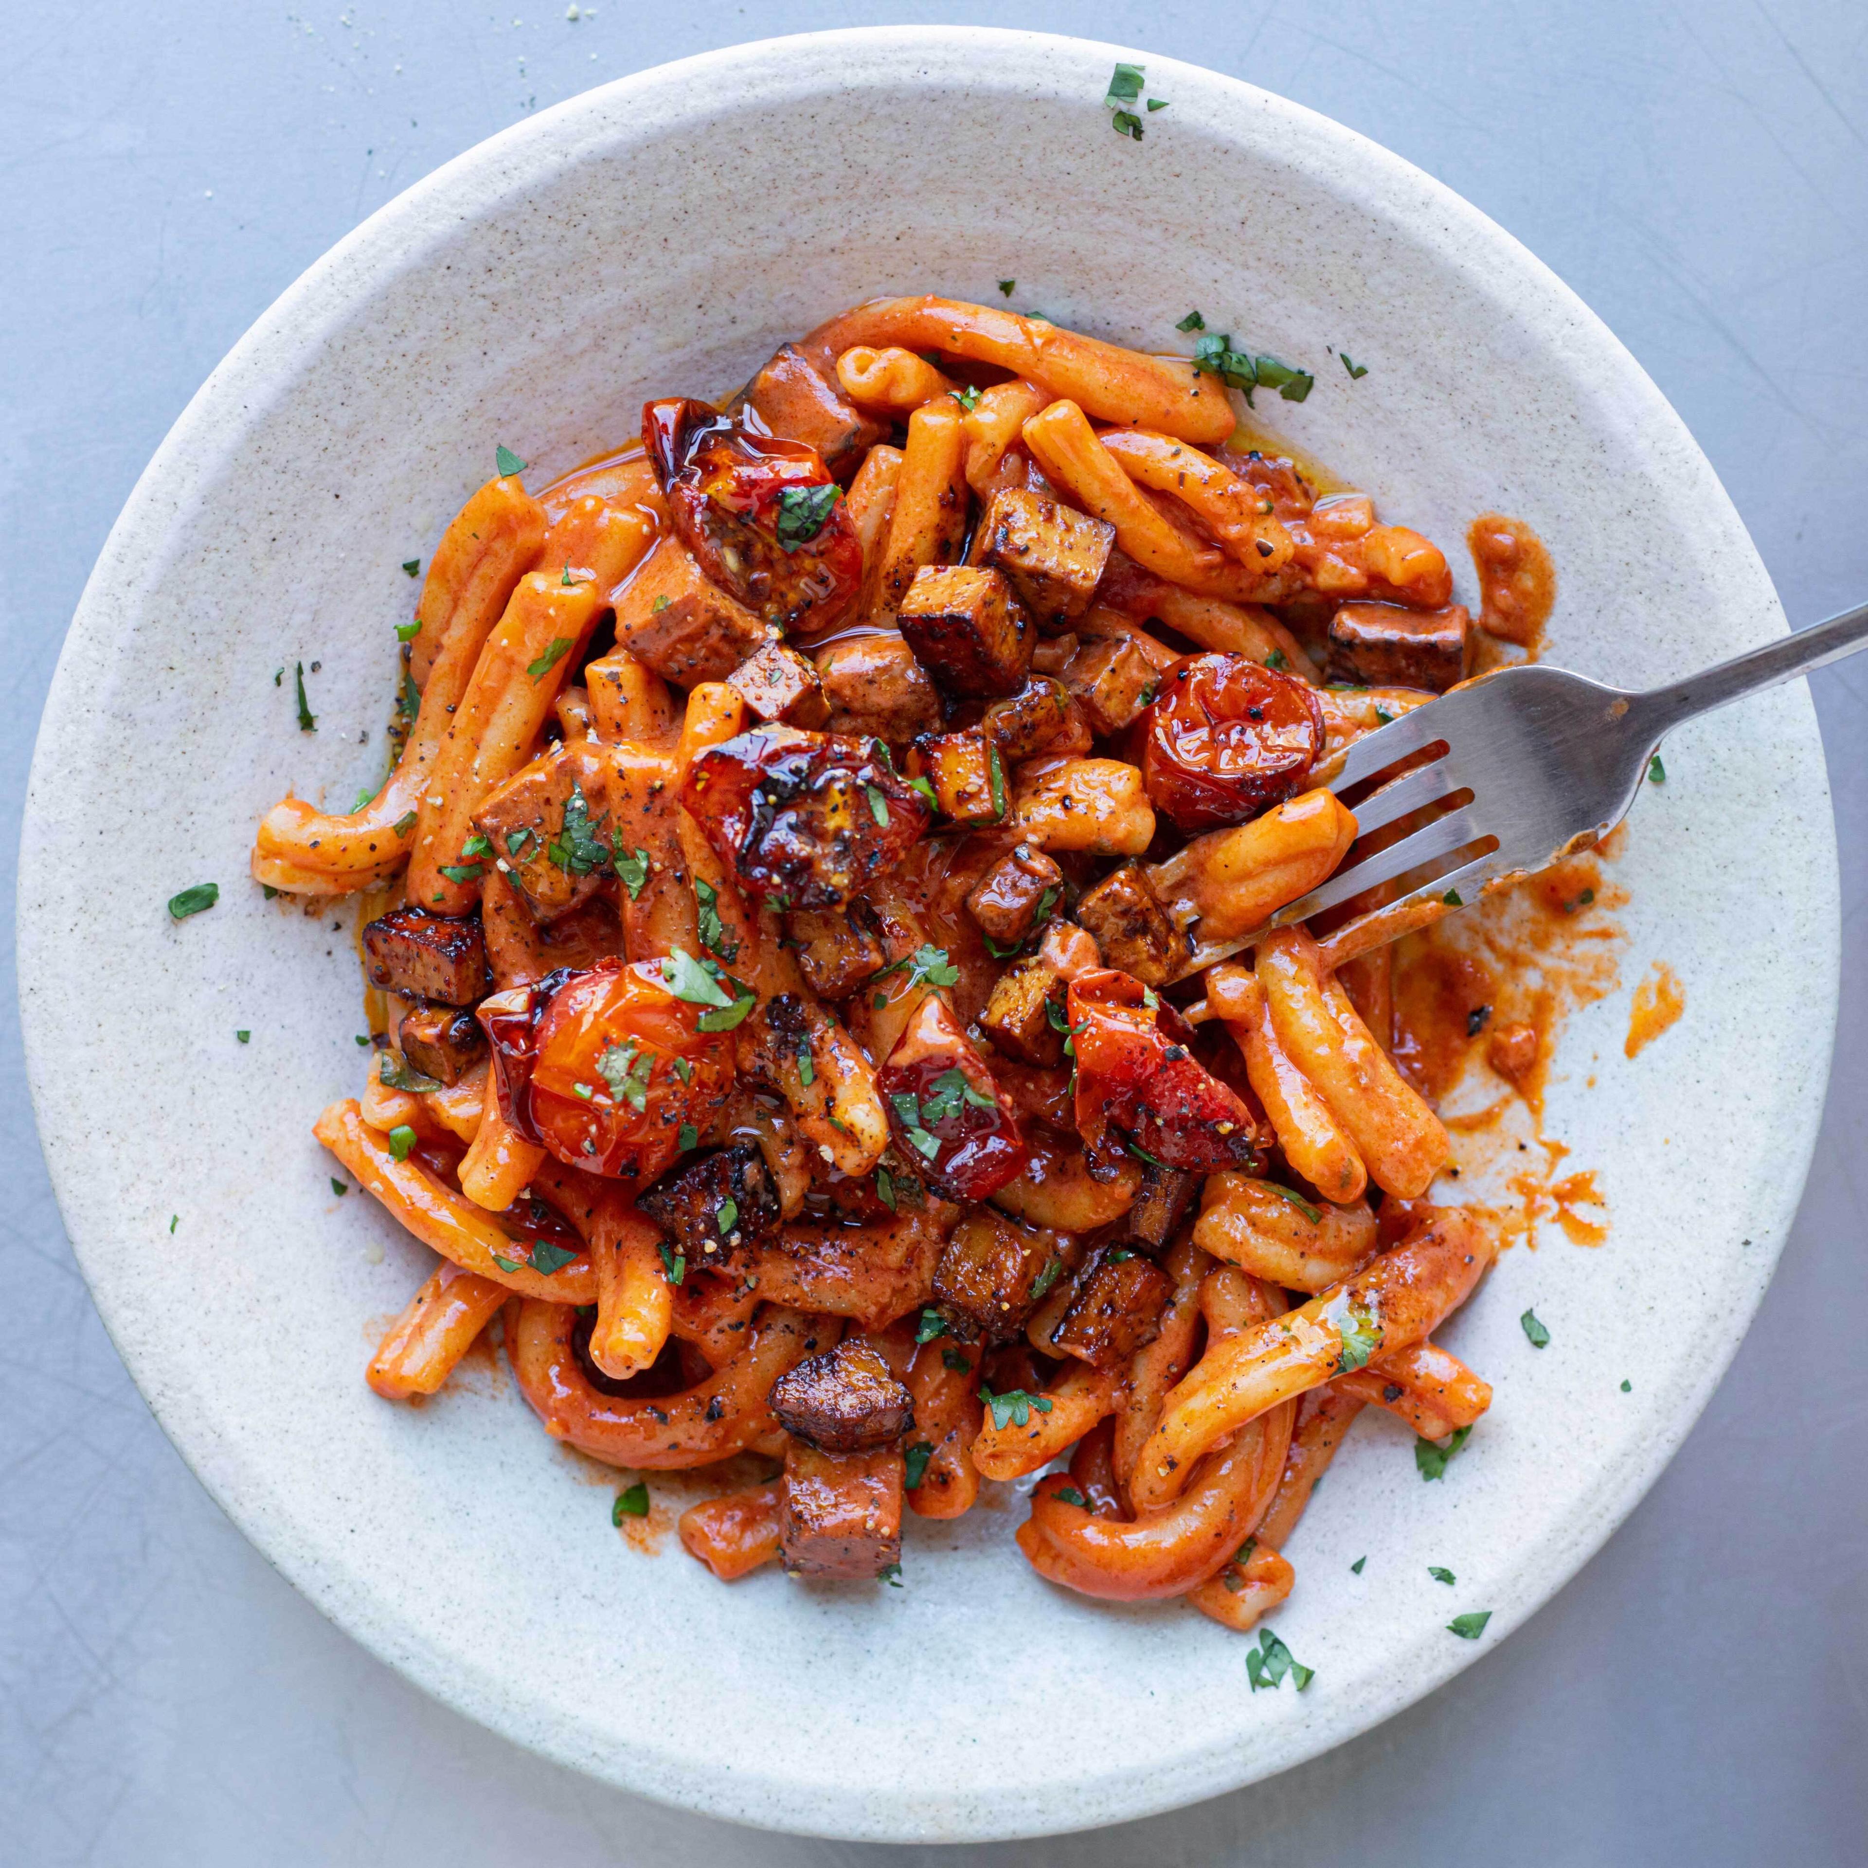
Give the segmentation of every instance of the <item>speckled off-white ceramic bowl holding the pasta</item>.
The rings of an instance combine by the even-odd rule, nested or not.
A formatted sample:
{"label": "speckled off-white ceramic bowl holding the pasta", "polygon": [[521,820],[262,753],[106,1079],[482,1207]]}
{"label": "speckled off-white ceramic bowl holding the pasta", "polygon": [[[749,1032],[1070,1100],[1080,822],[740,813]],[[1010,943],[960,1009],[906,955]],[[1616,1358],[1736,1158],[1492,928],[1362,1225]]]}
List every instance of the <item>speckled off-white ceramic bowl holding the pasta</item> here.
{"label": "speckled off-white ceramic bowl holding the pasta", "polygon": [[[1119,56],[1171,101],[1139,146],[1100,103]],[[262,900],[256,816],[288,786],[347,801],[375,783],[398,566],[428,555],[495,441],[553,474],[628,435],[644,396],[742,381],[839,306],[998,303],[1009,276],[1020,306],[1125,342],[1168,347],[1201,306],[1319,364],[1276,418],[1390,514],[1448,545],[1489,506],[1537,525],[1562,575],[1558,661],[1649,682],[1784,628],[1648,377],[1418,170],[1147,54],[826,34],[667,65],[495,136],[260,319],[84,592],[22,839],[28,1059],[60,1203],[215,1498],[340,1625],[517,1743],[844,1836],[1007,1836],[1205,1797],[1362,1732],[1507,1634],[1726,1367],[1803,1186],[1836,1003],[1834,844],[1797,687],[1679,734],[1664,794],[1634,813],[1625,984],[1571,1022],[1550,1095],[1610,1242],[1507,1253],[1457,1321],[1498,1399],[1444,1483],[1420,1483],[1392,1423],[1358,1427],[1274,1618],[1317,1670],[1302,1696],[1252,1694],[1246,1642],[1179,1606],[1050,1590],[1009,1511],[917,1522],[900,1590],[721,1588],[672,1539],[659,1558],[624,1545],[609,1493],[510,1388],[377,1401],[370,1332],[424,1253],[331,1194],[310,1123],[359,1087],[351,917]],[[1351,385],[1330,344],[1369,374]],[[295,661],[318,665],[316,736],[295,729]],[[170,923],[166,899],[202,880],[220,906]],[[1651,958],[1687,1014],[1627,1063],[1627,984]],[[1532,1302],[1543,1352],[1519,1330]],[[1461,1608],[1493,1610],[1483,1640],[1446,1633]]]}

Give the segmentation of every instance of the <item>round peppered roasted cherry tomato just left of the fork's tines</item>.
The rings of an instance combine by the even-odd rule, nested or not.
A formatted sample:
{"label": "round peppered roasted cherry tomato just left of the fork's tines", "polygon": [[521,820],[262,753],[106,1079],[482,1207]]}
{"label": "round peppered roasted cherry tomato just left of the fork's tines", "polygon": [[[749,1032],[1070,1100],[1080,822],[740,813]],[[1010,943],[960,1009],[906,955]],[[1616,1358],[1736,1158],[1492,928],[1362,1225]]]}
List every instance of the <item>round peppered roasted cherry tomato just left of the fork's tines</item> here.
{"label": "round peppered roasted cherry tomato just left of the fork's tines", "polygon": [[1143,723],[1141,781],[1186,835],[1281,805],[1323,751],[1323,708],[1309,686],[1244,656],[1182,661]]}

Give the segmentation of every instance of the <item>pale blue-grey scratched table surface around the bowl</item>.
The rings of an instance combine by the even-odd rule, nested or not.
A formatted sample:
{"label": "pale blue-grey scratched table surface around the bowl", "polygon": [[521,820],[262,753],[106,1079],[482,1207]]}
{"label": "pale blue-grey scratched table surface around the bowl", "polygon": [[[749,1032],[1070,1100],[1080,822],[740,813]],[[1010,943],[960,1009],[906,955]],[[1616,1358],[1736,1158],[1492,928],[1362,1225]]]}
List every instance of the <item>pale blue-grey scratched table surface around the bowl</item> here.
{"label": "pale blue-grey scratched table surface around the bowl", "polygon": [[[527,110],[738,39],[897,21],[1156,49],[1397,149],[1517,234],[1646,364],[1793,622],[1868,596],[1859,0],[600,0],[577,21],[562,0],[497,13],[49,0],[11,15],[0,69],[6,813],[118,506],[303,267]],[[1864,697],[1862,661],[1816,684],[1851,955]],[[123,771],[101,775],[101,809],[133,758],[125,747]],[[430,1704],[273,1575],[97,1323],[34,1138],[11,1003],[0,1016],[15,1162],[0,1224],[0,1861],[884,1859],[680,1816],[519,1752]],[[1816,1166],[1763,1311],[1672,1468],[1528,1627],[1414,1711],[1268,1784],[1095,1836],[962,1853],[1082,1868],[1868,1859],[1862,1039],[1851,969]]]}

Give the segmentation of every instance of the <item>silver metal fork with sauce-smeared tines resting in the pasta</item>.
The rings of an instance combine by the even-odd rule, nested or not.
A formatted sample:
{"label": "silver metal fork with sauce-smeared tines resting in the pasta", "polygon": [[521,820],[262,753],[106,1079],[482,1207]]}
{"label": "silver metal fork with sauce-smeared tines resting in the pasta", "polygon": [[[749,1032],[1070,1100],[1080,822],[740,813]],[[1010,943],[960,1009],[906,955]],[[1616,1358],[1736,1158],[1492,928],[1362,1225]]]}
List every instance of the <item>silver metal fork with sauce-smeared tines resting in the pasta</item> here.
{"label": "silver metal fork with sauce-smeared tines resting in the pasta", "polygon": [[[1470,792],[1457,809],[1371,856],[1356,857],[1321,887],[1281,908],[1259,932],[1308,921],[1410,870],[1444,863],[1472,844],[1489,850],[1371,908],[1330,940],[1339,964],[1438,919],[1491,885],[1535,874],[1592,846],[1627,816],[1649,760],[1681,721],[1728,700],[1827,667],[1868,644],[1868,603],[1752,648],[1666,687],[1623,693],[1567,669],[1521,663],[1429,700],[1349,747],[1332,792],[1380,777],[1427,749],[1440,749],[1360,805],[1356,839],[1414,811]],[[1229,947],[1248,945],[1244,941]]]}

